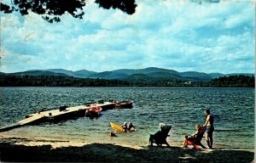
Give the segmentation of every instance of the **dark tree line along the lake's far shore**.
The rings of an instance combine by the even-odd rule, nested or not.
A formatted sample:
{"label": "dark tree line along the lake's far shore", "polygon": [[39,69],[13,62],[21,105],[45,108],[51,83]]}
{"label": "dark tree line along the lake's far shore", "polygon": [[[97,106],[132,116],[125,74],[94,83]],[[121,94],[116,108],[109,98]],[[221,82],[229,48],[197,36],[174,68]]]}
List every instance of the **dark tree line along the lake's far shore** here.
{"label": "dark tree line along the lake's far shore", "polygon": [[255,87],[254,76],[221,76],[210,82],[122,80],[78,78],[73,76],[0,76],[0,87]]}

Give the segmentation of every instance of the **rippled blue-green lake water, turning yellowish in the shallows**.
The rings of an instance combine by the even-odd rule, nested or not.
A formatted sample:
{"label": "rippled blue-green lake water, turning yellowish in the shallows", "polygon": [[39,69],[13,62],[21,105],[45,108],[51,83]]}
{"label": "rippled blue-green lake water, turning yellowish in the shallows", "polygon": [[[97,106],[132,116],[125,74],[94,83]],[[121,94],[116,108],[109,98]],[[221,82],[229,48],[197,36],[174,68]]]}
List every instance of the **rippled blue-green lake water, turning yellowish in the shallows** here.
{"label": "rippled blue-green lake water, turning yellowish in the shallows", "polygon": [[[132,99],[132,109],[107,110],[90,120],[62,121],[57,124],[24,126],[8,133],[13,136],[77,139],[96,143],[147,145],[148,134],[158,124],[172,125],[171,145],[180,145],[185,134],[194,133],[195,124],[205,122],[204,110],[210,108],[215,120],[214,146],[219,148],[254,148],[253,88],[145,88],[145,87],[0,87],[0,126],[6,126],[45,109],[75,106],[91,99]],[[137,132],[112,131],[109,122],[132,121]],[[0,133],[1,134],[1,133]],[[203,139],[202,143],[207,145]]]}

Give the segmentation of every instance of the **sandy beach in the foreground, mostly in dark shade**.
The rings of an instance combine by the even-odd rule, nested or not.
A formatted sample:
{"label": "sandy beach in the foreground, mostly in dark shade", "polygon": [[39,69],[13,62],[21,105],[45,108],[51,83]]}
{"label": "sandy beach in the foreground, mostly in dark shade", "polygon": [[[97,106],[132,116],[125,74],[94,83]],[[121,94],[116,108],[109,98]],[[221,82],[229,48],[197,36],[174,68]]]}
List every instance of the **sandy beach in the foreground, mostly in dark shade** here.
{"label": "sandy beach in the foreground, mostly in dark shade", "polygon": [[3,162],[253,162],[254,149],[183,149],[1,136]]}

